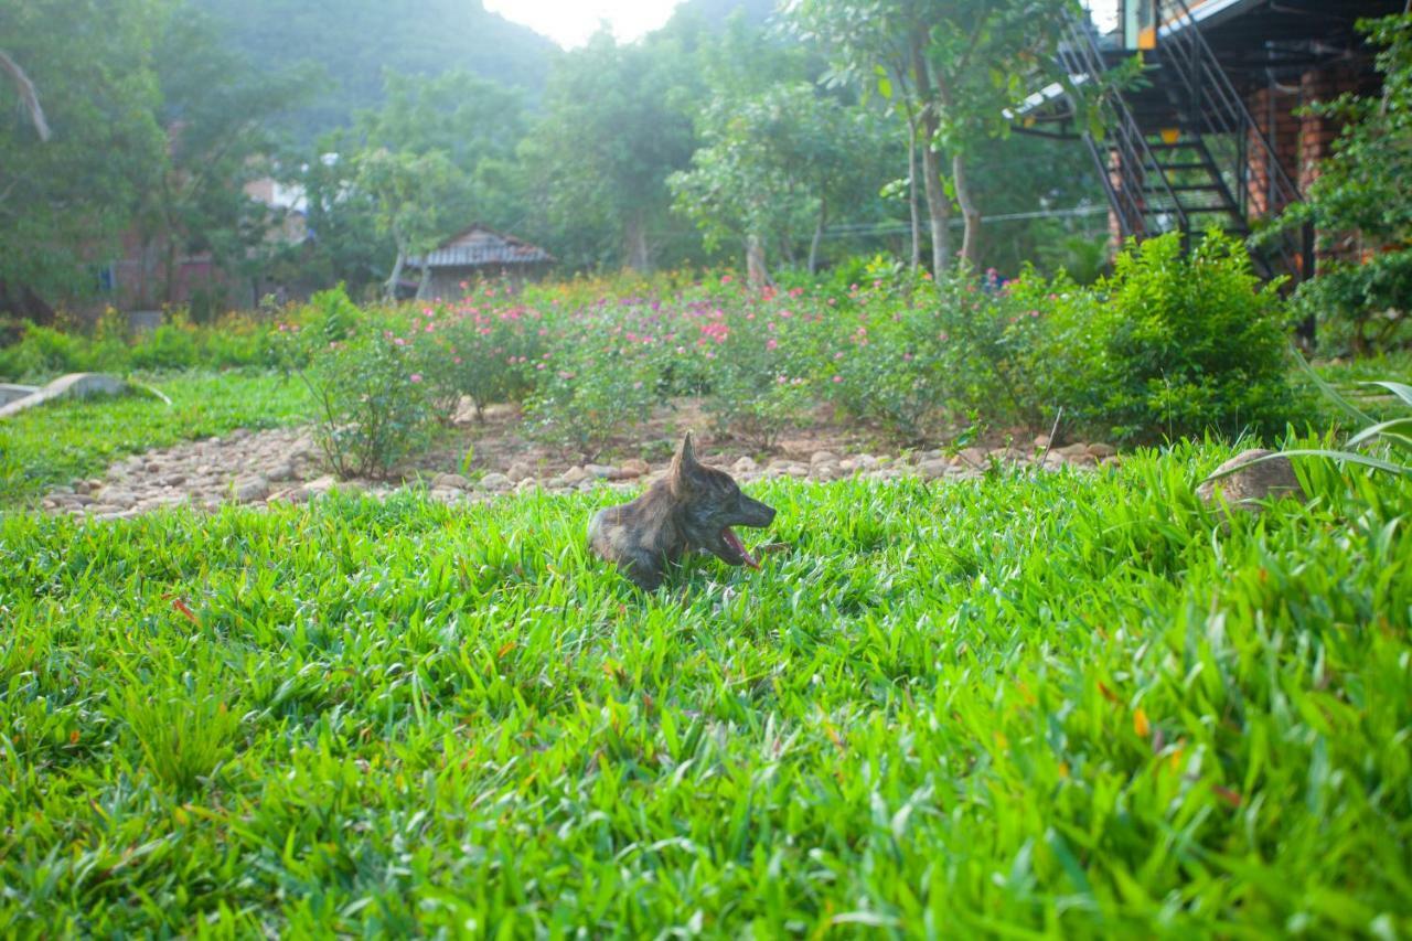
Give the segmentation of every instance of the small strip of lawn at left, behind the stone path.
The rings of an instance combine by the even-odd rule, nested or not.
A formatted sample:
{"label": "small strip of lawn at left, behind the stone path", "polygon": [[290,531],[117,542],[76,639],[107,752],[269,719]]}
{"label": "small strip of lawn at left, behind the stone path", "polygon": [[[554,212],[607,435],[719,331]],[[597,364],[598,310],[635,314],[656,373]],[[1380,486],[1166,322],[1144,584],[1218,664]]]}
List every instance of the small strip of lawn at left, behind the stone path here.
{"label": "small strip of lawn at left, behind the stone path", "polygon": [[0,421],[0,507],[47,487],[102,475],[134,452],[209,438],[236,428],[302,421],[308,390],[265,372],[178,373],[144,377],[172,404],[136,393],[56,401]]}

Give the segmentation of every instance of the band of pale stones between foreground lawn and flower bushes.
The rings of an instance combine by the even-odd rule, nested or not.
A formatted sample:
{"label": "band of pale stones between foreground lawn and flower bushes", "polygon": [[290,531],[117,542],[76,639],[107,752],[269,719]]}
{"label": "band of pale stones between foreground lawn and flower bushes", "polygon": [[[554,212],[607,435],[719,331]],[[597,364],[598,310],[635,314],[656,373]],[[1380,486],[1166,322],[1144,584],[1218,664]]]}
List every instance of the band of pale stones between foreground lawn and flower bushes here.
{"label": "band of pale stones between foreground lawn and flower bushes", "polygon": [[[779,456],[765,463],[726,448],[705,448],[703,459],[727,468],[746,483],[765,478],[837,480],[847,476],[895,479],[974,479],[991,461],[1034,465],[1048,439],[1034,441],[1034,451],[1017,448],[966,448],[956,455],[925,451],[905,455],[839,455],[815,451],[808,458]],[[1117,461],[1104,444],[1070,444],[1049,451],[1043,466],[1093,468]],[[401,485],[385,480],[336,480],[323,472],[321,455],[308,430],[234,431],[222,438],[192,441],[150,451],[114,463],[100,479],[73,480],[44,497],[49,513],[96,519],[124,519],[164,506],[191,504],[215,510],[226,503],[302,503],[335,489],[387,495],[394,489],[426,486],[446,503],[469,503],[503,493],[542,487],[549,492],[587,490],[596,486],[638,489],[666,472],[666,462],[650,465],[633,458],[616,465],[568,465],[563,461],[531,462],[504,455],[494,466],[477,468],[472,476],[446,472],[407,475]]]}

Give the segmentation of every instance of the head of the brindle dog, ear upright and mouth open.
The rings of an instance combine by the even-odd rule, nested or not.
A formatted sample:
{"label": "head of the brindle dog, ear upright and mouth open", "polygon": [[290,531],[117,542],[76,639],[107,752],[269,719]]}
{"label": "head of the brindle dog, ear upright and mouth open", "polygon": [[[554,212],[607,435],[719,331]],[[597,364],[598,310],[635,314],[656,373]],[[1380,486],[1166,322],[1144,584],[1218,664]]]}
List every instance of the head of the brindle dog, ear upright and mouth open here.
{"label": "head of the brindle dog, ear upright and mouth open", "polygon": [[760,568],[730,527],[770,526],[775,519],[774,507],[741,493],[740,486],[724,470],[696,461],[689,431],[672,458],[668,480],[672,496],[682,506],[682,528],[692,548],[705,550],[730,565]]}

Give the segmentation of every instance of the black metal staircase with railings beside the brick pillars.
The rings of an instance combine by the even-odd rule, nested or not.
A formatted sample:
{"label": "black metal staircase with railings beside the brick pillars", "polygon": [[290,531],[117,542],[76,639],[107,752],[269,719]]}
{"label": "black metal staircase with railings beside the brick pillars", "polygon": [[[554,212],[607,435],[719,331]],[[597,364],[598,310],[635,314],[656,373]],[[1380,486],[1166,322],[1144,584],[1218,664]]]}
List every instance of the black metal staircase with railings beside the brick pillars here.
{"label": "black metal staircase with railings beside the brick pillars", "polygon": [[[1251,233],[1251,194],[1275,212],[1299,199],[1269,138],[1255,123],[1185,0],[1163,0],[1147,86],[1111,92],[1106,136],[1084,133],[1123,237],[1180,232],[1190,240],[1217,225]],[[1069,23],[1060,61],[1073,76],[1099,79],[1115,62],[1084,18]],[[1127,54],[1123,54],[1125,58]],[[1252,178],[1251,167],[1262,171]],[[1312,232],[1254,251],[1264,277],[1313,273]]]}

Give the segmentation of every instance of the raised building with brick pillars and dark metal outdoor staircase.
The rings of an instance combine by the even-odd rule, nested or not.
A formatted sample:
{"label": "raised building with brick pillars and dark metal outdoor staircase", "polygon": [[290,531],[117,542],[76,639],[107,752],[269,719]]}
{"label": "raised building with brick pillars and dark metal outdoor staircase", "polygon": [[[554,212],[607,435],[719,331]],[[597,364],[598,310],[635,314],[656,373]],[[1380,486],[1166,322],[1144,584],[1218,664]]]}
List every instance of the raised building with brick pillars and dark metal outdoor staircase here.
{"label": "raised building with brick pillars and dark metal outdoor staircase", "polygon": [[[1357,21],[1401,13],[1404,3],[1090,0],[1089,21],[1075,21],[1060,47],[1073,83],[1091,85],[1134,54],[1144,81],[1108,96],[1101,137],[1079,126],[1058,85],[1029,97],[1017,130],[1084,143],[1117,239],[1190,237],[1211,225],[1248,235],[1300,199],[1339,134],[1332,119],[1300,109],[1378,89]],[[1310,277],[1313,235],[1289,233],[1257,253],[1257,267]]]}

